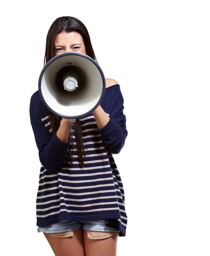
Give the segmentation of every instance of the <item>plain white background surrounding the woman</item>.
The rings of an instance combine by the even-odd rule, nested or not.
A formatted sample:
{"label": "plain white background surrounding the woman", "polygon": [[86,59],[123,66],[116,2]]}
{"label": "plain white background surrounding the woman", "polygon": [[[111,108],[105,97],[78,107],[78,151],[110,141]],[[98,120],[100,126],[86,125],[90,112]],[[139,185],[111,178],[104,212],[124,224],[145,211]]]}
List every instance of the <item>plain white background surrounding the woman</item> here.
{"label": "plain white background surrounding the woman", "polygon": [[127,235],[118,256],[210,255],[209,1],[1,4],[1,255],[48,255],[37,233],[40,162],[29,118],[46,34],[60,16],[87,27],[106,78],[121,85],[128,137],[115,156]]}

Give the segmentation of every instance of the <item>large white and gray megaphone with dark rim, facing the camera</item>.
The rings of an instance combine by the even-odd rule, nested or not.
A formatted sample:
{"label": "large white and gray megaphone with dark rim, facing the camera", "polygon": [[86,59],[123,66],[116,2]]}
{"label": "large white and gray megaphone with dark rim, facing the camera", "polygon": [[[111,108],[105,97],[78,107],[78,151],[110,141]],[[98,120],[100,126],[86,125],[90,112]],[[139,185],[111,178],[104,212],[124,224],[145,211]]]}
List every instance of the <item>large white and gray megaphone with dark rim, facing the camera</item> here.
{"label": "large white and gray megaphone with dark rim, facing the camera", "polygon": [[66,52],[53,57],[40,73],[38,90],[46,108],[75,122],[92,113],[104,98],[104,73],[91,57]]}

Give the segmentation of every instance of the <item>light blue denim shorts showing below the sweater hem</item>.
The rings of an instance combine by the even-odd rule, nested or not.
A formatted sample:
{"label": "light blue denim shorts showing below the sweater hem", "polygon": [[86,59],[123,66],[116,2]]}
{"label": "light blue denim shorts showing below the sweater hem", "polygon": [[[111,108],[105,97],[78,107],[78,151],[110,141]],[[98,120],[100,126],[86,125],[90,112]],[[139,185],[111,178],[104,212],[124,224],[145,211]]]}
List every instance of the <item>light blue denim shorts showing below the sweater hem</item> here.
{"label": "light blue denim shorts showing below the sweater hem", "polygon": [[85,229],[85,230],[93,230],[93,231],[105,231],[105,232],[119,232],[112,227],[106,227],[104,220],[96,220],[96,221],[60,221],[58,223],[48,225],[45,227],[39,227],[38,232],[44,233],[61,233],[76,229]]}

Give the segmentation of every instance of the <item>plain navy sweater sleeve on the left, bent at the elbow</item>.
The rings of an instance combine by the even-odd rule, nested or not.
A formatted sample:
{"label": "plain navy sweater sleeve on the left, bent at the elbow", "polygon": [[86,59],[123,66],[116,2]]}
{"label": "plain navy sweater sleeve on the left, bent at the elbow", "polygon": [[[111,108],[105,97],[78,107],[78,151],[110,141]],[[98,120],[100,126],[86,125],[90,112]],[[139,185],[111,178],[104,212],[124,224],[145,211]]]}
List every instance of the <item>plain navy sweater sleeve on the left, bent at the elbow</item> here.
{"label": "plain navy sweater sleeve on the left, bent at the elbow", "polygon": [[56,174],[65,161],[70,139],[67,143],[62,143],[57,137],[57,132],[53,135],[48,130],[41,120],[32,99],[30,102],[30,119],[39,150],[40,162],[48,172]]}

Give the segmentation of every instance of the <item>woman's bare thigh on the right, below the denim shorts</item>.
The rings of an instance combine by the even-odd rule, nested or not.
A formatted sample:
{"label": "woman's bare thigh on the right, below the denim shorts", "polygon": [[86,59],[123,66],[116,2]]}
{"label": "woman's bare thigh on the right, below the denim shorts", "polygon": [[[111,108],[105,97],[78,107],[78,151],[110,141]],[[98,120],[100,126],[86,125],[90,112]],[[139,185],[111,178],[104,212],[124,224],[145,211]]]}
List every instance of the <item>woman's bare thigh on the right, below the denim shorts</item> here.
{"label": "woman's bare thigh on the right, below the denim shorts", "polygon": [[[116,256],[119,232],[105,239],[89,239],[88,231],[83,230],[83,240],[86,256]],[[96,231],[100,232],[100,231]]]}

